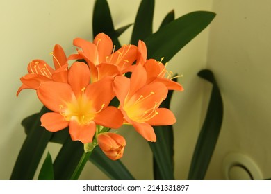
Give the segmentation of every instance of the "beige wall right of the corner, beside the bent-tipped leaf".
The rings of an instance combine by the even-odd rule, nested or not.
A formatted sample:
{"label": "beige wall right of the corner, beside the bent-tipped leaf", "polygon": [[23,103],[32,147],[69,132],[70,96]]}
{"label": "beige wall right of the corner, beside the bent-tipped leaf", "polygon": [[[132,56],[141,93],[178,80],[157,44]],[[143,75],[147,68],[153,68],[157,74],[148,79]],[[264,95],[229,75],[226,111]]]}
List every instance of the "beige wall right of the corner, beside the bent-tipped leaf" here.
{"label": "beige wall right of the corner, beside the bent-tipped leaf", "polygon": [[[271,177],[271,1],[213,1],[206,66],[224,100],[222,133],[208,179],[222,179],[224,158],[246,155]],[[269,100],[268,100],[269,99]]]}

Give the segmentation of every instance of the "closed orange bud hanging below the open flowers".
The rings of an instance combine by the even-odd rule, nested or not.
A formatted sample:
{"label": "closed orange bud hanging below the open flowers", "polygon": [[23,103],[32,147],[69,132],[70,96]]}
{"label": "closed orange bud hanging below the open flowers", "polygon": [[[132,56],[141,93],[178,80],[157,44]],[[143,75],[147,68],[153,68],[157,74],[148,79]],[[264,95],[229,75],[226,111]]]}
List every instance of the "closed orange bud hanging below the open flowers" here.
{"label": "closed orange bud hanging below the open flowers", "polygon": [[108,158],[117,160],[122,157],[126,141],[120,134],[111,132],[98,134],[97,142]]}

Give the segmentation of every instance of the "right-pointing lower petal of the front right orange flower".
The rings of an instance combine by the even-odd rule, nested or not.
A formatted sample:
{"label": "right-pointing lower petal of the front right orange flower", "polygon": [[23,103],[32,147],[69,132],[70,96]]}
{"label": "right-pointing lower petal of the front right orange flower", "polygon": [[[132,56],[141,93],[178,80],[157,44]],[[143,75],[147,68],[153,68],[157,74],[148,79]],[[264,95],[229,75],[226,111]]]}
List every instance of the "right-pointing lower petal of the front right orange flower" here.
{"label": "right-pointing lower petal of the front right orange flower", "polygon": [[158,126],[158,125],[173,125],[176,123],[176,118],[170,109],[166,108],[158,108],[156,109],[158,114],[151,118],[149,121],[149,125]]}

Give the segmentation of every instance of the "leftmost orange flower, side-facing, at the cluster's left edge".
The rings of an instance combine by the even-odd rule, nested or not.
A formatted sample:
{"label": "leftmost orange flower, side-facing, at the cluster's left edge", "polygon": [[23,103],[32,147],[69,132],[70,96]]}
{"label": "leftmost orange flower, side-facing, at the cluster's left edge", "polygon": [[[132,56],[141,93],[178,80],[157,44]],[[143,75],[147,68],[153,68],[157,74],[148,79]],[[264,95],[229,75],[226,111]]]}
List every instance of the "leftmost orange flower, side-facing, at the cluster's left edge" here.
{"label": "leftmost orange flower, side-facing, at the cluster's left edge", "polygon": [[56,44],[52,53],[54,67],[52,69],[44,60],[32,60],[28,64],[28,74],[21,78],[22,86],[17,91],[17,96],[22,89],[38,89],[41,82],[56,81],[67,82],[67,57],[63,48]]}

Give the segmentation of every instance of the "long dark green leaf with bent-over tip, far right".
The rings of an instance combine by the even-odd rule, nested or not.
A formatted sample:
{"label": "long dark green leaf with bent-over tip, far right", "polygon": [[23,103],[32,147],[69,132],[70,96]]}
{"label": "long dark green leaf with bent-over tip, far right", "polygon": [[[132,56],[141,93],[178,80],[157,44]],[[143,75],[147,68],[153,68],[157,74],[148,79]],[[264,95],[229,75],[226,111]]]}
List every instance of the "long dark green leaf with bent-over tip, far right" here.
{"label": "long dark green leaf with bent-over tip, far right", "polygon": [[197,139],[197,145],[194,150],[188,179],[204,179],[206,170],[211,161],[223,118],[223,102],[220,89],[217,86],[212,71],[204,69],[199,71],[198,76],[208,80],[213,84],[211,98],[202,130]]}

